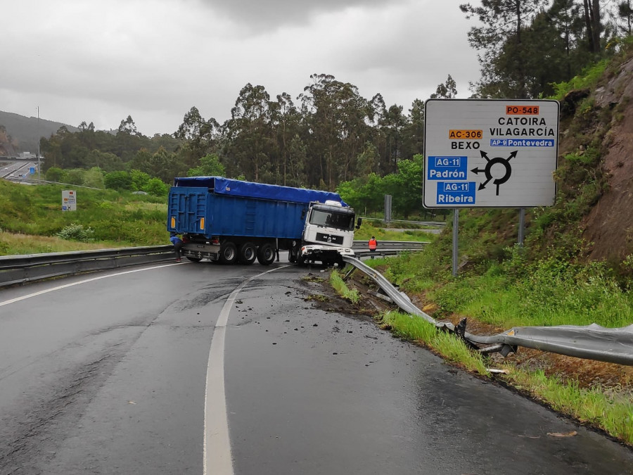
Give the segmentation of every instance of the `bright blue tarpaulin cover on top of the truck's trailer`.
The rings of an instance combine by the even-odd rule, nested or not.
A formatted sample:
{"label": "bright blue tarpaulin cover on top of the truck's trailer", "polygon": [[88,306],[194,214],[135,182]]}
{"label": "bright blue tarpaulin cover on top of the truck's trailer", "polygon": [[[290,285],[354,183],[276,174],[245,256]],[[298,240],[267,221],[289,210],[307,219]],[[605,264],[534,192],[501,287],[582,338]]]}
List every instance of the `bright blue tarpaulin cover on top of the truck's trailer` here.
{"label": "bright blue tarpaulin cover on top of the truck's trailer", "polygon": [[326,200],[338,201],[347,206],[338,193],[330,191],[309,190],[263,183],[242,182],[223,177],[181,177],[174,178],[174,186],[198,186],[208,188],[215,194],[242,196],[244,198],[262,198],[275,201],[290,201],[292,203],[309,203]]}

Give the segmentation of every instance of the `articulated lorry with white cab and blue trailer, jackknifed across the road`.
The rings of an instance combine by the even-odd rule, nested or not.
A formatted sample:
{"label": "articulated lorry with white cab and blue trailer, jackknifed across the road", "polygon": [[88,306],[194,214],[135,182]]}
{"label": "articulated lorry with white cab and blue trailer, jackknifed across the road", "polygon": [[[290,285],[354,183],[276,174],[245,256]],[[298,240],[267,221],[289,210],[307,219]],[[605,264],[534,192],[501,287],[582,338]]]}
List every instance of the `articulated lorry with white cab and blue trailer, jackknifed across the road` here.
{"label": "articulated lorry with white cab and blue trailer, jackknifed across the road", "polygon": [[299,265],[343,265],[355,224],[338,194],[223,177],[175,178],[167,210],[167,231],[194,262],[270,265],[281,249]]}

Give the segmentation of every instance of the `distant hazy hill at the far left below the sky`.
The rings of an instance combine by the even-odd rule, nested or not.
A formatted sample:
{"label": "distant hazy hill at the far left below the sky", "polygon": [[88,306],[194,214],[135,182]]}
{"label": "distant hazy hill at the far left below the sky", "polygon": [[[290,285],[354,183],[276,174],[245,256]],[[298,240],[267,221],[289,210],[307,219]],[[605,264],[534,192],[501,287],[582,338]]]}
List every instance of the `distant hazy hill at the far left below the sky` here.
{"label": "distant hazy hill at the far left below the sky", "polygon": [[[6,137],[4,134],[0,134],[0,149],[5,149],[6,153],[37,153],[39,137],[51,137],[51,134],[55,134],[62,126],[65,126],[70,132],[79,130],[77,127],[61,122],[42,118],[38,121],[37,117],[25,117],[0,110],[0,129],[2,126],[6,129]],[[10,140],[11,144],[6,144],[4,142],[6,140]],[[10,150],[13,152],[9,152]]]}

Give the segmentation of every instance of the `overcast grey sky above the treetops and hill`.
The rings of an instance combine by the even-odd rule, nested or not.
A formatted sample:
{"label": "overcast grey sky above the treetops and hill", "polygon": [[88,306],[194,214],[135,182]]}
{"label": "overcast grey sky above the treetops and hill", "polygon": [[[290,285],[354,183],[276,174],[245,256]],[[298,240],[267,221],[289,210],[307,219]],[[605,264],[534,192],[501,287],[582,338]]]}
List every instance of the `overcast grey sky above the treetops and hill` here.
{"label": "overcast grey sky above the treetops and hill", "polygon": [[[465,0],[12,0],[2,6],[0,110],[171,134],[196,106],[230,118],[240,89],[295,99],[311,74],[404,112],[452,75],[479,79]],[[478,1],[471,1],[479,4]],[[298,103],[298,101],[295,101]]]}

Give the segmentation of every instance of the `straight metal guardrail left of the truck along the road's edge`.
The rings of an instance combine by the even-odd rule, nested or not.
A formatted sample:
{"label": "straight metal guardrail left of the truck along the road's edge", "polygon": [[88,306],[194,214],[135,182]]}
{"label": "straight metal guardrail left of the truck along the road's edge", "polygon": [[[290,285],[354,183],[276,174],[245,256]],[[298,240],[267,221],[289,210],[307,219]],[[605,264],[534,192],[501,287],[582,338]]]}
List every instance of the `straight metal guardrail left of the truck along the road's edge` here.
{"label": "straight metal guardrail left of the truck along the road's edge", "polygon": [[171,245],[8,255],[0,257],[0,288],[80,272],[162,262],[172,258],[174,258],[174,247]]}

